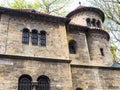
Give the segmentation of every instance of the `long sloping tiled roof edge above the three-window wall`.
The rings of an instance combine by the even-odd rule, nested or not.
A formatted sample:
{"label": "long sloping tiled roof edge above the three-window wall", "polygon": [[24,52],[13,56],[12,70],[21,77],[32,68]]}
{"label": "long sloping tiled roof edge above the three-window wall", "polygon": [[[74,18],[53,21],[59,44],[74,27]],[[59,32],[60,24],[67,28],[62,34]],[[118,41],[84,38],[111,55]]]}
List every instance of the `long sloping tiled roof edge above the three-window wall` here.
{"label": "long sloping tiled roof edge above the three-window wall", "polygon": [[46,17],[46,18],[51,18],[52,21],[56,20],[57,22],[67,22],[69,21],[65,17],[59,17],[59,16],[53,16],[49,15],[43,12],[38,12],[35,10],[30,10],[30,9],[11,9],[11,8],[5,8],[5,7],[0,7],[0,13],[5,13],[5,14],[14,14],[14,15],[27,15],[28,17],[35,16],[38,18]]}

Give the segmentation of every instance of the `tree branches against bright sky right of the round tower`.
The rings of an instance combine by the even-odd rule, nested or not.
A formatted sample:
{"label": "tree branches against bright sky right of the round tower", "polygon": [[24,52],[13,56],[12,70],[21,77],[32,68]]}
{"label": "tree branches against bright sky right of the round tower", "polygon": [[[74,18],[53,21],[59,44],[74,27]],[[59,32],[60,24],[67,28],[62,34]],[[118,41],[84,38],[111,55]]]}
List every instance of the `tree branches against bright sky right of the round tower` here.
{"label": "tree branches against bright sky right of the round tower", "polygon": [[112,54],[120,60],[120,0],[88,0],[88,2],[104,11],[105,29],[111,36],[111,45],[116,47],[117,55],[115,52]]}

